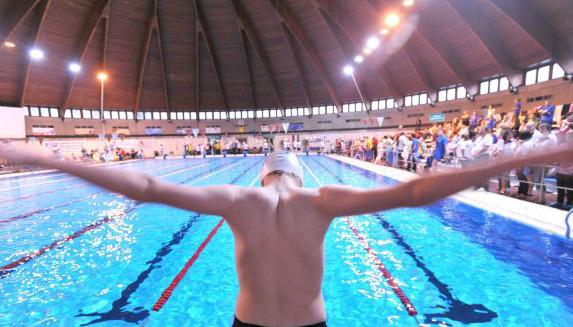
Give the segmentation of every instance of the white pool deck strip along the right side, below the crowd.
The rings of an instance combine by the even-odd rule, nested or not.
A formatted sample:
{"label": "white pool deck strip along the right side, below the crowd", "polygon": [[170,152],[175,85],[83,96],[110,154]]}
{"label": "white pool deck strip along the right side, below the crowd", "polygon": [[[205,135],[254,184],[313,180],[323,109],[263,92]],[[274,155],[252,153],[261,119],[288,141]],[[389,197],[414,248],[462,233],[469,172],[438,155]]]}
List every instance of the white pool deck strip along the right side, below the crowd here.
{"label": "white pool deck strip along the right side, below the crowd", "polygon": [[[419,177],[419,175],[408,171],[375,165],[349,157],[339,155],[328,155],[328,157],[400,182]],[[566,211],[486,191],[465,190],[451,196],[451,198],[522,224],[535,227],[544,232],[566,237]]]}

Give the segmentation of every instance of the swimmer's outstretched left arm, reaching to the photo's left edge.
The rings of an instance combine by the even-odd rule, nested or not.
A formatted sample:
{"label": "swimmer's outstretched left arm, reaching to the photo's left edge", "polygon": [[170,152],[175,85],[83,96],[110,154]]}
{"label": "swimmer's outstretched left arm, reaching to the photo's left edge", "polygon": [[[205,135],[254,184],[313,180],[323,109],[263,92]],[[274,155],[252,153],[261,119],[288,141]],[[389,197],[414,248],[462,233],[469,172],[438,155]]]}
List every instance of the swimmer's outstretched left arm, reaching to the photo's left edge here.
{"label": "swimmer's outstretched left arm, reaching to the photo's left edge", "polygon": [[228,216],[234,207],[238,186],[180,186],[152,176],[123,169],[90,167],[57,160],[31,146],[0,146],[0,158],[14,164],[38,165],[77,176],[136,201],[156,202],[199,213]]}

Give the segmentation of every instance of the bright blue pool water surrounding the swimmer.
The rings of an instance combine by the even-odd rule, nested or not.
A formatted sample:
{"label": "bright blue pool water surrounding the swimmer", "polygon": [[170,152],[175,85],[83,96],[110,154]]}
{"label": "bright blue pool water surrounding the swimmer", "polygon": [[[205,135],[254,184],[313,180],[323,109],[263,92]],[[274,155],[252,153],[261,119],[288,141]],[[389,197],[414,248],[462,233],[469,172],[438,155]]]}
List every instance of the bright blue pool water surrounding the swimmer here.
{"label": "bright blue pool water surrounding the swimmer", "polygon": [[[395,184],[326,157],[301,159],[306,187]],[[257,186],[262,161],[153,160],[117,169],[185,185]],[[15,264],[0,271],[0,326],[230,325],[238,285],[226,225],[152,311],[219,217],[136,203],[60,173],[0,180],[0,206],[0,267]],[[422,324],[573,325],[571,242],[451,199],[349,222]],[[363,245],[345,219],[333,222],[323,287],[329,326],[416,326]]]}

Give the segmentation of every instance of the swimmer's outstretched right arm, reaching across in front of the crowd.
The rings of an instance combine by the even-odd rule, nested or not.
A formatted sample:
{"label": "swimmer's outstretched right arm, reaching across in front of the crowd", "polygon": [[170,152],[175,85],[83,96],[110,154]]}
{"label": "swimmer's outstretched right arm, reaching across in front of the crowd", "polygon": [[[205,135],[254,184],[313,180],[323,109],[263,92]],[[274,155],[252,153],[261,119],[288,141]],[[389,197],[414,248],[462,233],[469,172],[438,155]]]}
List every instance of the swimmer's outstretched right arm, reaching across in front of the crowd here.
{"label": "swimmer's outstretched right arm, reaching across in front of the crowd", "polygon": [[530,164],[573,162],[573,148],[544,151],[501,162],[438,173],[393,187],[357,189],[325,186],[319,190],[321,210],[330,218],[378,212],[398,207],[416,207],[436,202],[464,189],[478,185],[491,176]]}

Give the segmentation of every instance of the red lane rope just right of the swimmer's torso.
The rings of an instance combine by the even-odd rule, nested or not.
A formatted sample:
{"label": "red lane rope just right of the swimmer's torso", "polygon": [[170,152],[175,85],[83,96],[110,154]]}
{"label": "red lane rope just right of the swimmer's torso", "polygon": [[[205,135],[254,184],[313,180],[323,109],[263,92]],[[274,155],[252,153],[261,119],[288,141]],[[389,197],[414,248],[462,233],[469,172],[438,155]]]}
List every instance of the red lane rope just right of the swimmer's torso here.
{"label": "red lane rope just right of the swimmer's torso", "polygon": [[[318,179],[318,177],[316,177],[314,172],[312,170],[310,170],[308,165],[303,160],[301,160],[300,162],[308,170],[308,172],[310,173],[312,178],[315,180],[315,182],[319,186],[323,186],[322,182]],[[386,283],[388,284],[388,286],[390,286],[390,289],[392,289],[394,294],[398,297],[398,299],[400,299],[400,302],[402,302],[402,305],[404,306],[404,309],[406,309],[406,311],[408,312],[408,315],[415,317],[418,314],[416,307],[414,306],[412,301],[410,301],[410,299],[406,296],[404,291],[402,291],[402,288],[400,288],[400,286],[398,286],[398,284],[396,284],[396,282],[394,281],[394,277],[392,277],[392,274],[390,273],[390,271],[388,271],[388,269],[386,269],[386,266],[382,263],[380,256],[376,253],[376,251],[374,251],[370,247],[370,245],[368,244],[368,241],[366,241],[366,239],[362,235],[360,235],[358,230],[350,222],[349,217],[344,217],[344,221],[346,222],[346,224],[348,225],[350,230],[354,233],[354,236],[356,236],[356,238],[358,238],[362,247],[366,250],[366,252],[370,255],[370,257],[372,259],[374,259],[374,263],[376,263],[376,267],[382,273],[382,276],[386,280]]]}

